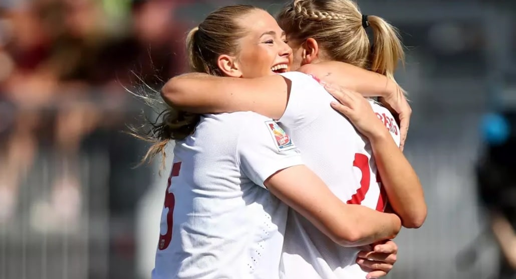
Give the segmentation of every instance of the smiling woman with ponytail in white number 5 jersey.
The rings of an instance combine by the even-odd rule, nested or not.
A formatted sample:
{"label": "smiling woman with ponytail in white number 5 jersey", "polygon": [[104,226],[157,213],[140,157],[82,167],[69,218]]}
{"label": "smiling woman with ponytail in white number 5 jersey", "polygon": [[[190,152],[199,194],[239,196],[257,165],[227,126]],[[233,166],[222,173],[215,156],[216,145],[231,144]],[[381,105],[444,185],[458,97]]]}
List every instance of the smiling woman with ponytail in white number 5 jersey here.
{"label": "smiling woman with ponytail in white number 5 jersey", "polygon": [[[209,14],[188,35],[188,50],[191,70],[206,75],[292,78],[275,74],[292,64],[283,30],[270,14],[252,6],[227,6]],[[309,81],[324,91],[311,77]],[[143,136],[154,143],[146,159],[165,155],[167,144],[175,141],[154,279],[283,278],[280,260],[289,208],[340,246],[391,239],[401,228],[394,213],[338,198],[303,164],[289,134],[266,116],[196,115],[168,107]],[[353,185],[352,168],[340,168],[342,163],[351,166],[352,158],[343,157],[331,165],[338,167],[333,173],[339,173],[339,183]]]}

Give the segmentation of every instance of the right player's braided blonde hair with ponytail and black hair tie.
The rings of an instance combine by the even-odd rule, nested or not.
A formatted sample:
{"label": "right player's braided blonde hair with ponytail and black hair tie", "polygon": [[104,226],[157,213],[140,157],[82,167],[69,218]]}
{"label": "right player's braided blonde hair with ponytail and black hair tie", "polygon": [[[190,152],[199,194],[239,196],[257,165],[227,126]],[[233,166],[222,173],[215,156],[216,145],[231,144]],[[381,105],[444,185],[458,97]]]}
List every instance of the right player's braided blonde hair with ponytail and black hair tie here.
{"label": "right player's braided blonde hair with ponytail and black hair tie", "polygon": [[302,43],[313,38],[330,59],[384,74],[394,81],[396,66],[405,58],[399,34],[375,15],[368,15],[367,22],[373,30],[373,45],[358,5],[350,0],[293,0],[278,15],[289,40]]}

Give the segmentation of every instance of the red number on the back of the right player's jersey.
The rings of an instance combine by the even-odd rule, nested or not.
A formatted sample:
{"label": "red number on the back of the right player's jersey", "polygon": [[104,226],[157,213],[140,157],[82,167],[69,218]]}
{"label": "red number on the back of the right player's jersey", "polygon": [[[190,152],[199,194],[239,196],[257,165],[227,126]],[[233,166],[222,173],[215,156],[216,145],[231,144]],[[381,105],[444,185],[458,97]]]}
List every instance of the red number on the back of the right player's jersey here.
{"label": "red number on the back of the right player's jersey", "polygon": [[[355,153],[355,159],[353,161],[353,166],[356,166],[360,169],[362,173],[362,179],[360,179],[360,188],[357,190],[357,193],[351,196],[351,199],[347,201],[348,205],[360,205],[365,198],[365,194],[369,191],[369,184],[371,179],[371,168],[369,167],[369,159],[366,155],[361,153]],[[376,174],[376,182],[380,183],[380,196],[378,197],[378,203],[376,204],[376,210],[382,211],[385,209],[385,204],[387,203],[387,195],[385,193],[385,189],[383,189],[381,185],[380,174]]]}

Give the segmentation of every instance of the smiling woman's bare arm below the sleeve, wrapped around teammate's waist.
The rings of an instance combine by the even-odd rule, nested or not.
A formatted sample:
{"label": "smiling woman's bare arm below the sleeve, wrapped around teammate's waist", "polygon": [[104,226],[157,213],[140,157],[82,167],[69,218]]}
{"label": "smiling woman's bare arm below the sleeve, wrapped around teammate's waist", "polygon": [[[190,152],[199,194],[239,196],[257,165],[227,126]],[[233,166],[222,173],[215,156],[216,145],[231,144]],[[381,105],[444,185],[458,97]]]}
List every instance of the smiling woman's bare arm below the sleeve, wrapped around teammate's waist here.
{"label": "smiling woman's bare arm below the sleeve, wrapped around teammate's waist", "polygon": [[343,203],[304,165],[280,170],[264,184],[272,194],[343,246],[391,239],[401,228],[395,214]]}

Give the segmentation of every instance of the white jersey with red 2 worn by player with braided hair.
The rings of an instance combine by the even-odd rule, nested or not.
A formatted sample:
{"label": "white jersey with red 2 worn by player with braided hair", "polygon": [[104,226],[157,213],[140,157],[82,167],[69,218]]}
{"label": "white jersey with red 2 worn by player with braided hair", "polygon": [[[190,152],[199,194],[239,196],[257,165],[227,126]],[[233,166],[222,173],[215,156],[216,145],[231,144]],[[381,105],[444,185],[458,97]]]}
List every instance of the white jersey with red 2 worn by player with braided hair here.
{"label": "white jersey with red 2 worn by player with braided hair", "polygon": [[[292,81],[280,125],[292,136],[309,166],[341,200],[383,211],[377,169],[370,144],[351,123],[333,110],[335,99],[311,76],[282,74]],[[388,110],[372,103],[399,145],[399,129]],[[364,279],[355,263],[360,247],[342,247],[289,209],[282,254],[282,277]]]}

